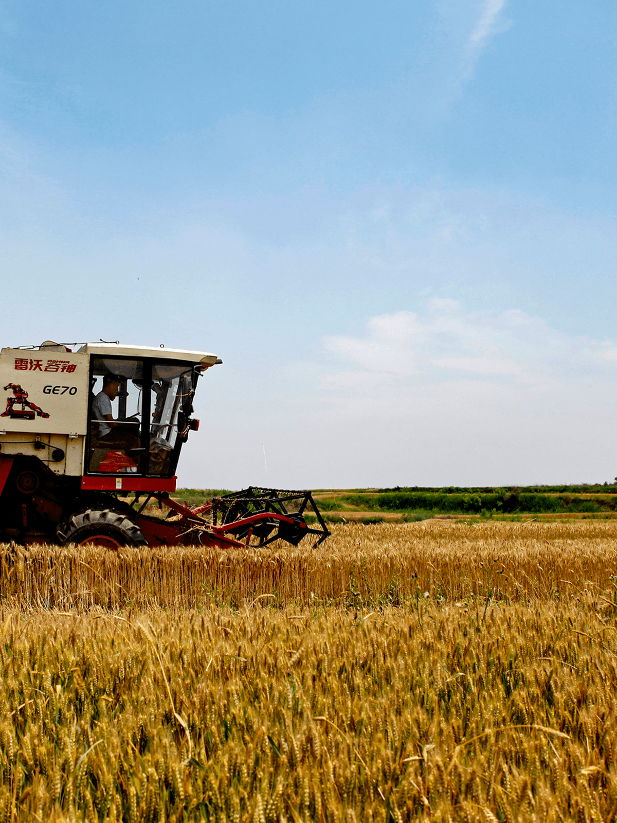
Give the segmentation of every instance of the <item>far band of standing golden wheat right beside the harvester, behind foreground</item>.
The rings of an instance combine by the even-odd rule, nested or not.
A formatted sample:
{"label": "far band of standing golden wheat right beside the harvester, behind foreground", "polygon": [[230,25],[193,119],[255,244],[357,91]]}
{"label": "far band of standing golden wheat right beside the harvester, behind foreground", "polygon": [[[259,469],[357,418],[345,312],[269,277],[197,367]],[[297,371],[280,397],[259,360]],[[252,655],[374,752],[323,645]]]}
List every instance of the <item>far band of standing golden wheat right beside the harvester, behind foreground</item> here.
{"label": "far band of standing golden wheat right beside the harvester, behind foreground", "polygon": [[16,607],[381,607],[419,597],[615,601],[617,523],[342,524],[317,549],[273,545],[109,551],[5,546],[0,597]]}

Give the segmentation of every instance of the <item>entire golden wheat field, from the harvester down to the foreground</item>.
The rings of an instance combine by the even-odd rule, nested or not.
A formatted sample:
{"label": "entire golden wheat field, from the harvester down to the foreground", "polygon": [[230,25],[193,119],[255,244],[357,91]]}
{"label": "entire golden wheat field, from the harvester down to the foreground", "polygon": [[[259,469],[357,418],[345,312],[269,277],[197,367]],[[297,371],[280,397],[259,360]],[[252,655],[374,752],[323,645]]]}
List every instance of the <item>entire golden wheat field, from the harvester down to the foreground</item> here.
{"label": "entire golden wheat field, from the harvester down to the foreground", "polygon": [[617,819],[615,537],[5,546],[0,823]]}

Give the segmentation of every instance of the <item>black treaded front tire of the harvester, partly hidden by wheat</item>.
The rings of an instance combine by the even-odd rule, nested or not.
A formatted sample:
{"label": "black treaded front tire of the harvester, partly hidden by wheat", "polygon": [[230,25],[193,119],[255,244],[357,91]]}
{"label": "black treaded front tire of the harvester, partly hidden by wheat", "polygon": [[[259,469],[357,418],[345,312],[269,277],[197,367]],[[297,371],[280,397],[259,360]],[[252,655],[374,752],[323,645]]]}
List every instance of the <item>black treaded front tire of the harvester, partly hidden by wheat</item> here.
{"label": "black treaded front tire of the harvester, partly hidden by wheat", "polygon": [[58,541],[64,543],[96,543],[109,548],[119,546],[147,546],[141,529],[125,514],[113,509],[86,509],[72,514],[56,531]]}

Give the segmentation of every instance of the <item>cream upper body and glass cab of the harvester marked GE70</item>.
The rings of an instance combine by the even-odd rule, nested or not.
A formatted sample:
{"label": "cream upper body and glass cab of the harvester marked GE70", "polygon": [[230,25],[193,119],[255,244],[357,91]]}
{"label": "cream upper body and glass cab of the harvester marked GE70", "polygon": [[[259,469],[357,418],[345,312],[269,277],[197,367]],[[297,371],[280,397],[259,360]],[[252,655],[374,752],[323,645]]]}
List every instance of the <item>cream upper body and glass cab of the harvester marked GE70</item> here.
{"label": "cream upper body and glass cab of the harvester marked GE70", "polygon": [[102,342],[2,349],[0,455],[37,458],[81,477],[82,489],[174,491],[180,448],[198,425],[195,384],[216,362],[204,351]]}

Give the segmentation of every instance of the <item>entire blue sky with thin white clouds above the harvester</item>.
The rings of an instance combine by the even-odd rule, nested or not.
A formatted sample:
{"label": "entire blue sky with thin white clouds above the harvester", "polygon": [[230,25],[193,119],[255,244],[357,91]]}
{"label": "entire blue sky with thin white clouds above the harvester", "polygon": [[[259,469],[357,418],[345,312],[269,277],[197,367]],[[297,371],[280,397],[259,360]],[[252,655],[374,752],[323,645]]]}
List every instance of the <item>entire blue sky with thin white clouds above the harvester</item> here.
{"label": "entire blue sky with thin white clouds above the harvester", "polygon": [[216,351],[187,485],[612,481],[616,18],[0,2],[2,345]]}

